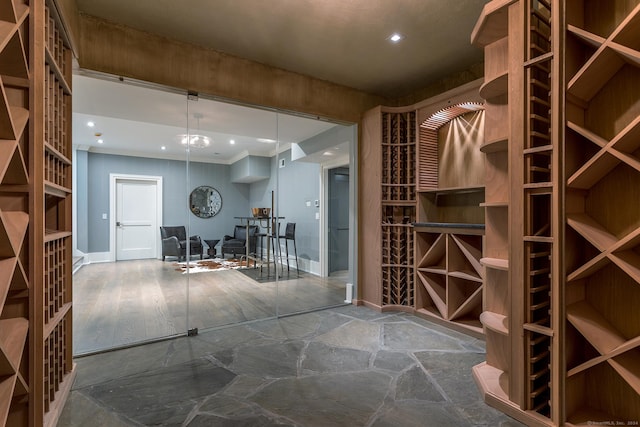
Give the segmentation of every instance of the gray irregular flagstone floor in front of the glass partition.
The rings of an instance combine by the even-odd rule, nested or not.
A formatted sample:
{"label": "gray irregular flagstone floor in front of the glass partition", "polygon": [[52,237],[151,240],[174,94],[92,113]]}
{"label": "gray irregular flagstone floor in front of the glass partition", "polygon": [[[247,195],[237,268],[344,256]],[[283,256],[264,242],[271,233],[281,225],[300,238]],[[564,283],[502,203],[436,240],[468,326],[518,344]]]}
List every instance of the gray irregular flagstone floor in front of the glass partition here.
{"label": "gray irregular flagstone floor in front of the glass partition", "polygon": [[76,360],[58,426],[521,426],[485,405],[484,342],[345,306]]}

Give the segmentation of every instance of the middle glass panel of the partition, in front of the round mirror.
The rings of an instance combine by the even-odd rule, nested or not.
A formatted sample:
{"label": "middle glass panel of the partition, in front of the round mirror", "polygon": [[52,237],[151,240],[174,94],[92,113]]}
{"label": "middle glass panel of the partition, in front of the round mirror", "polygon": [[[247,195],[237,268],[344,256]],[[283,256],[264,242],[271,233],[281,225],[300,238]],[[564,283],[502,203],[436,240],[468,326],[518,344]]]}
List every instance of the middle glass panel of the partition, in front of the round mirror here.
{"label": "middle glass panel of the partition, in front of the round mirror", "polygon": [[276,316],[272,197],[276,113],[206,96],[188,102],[189,329]]}

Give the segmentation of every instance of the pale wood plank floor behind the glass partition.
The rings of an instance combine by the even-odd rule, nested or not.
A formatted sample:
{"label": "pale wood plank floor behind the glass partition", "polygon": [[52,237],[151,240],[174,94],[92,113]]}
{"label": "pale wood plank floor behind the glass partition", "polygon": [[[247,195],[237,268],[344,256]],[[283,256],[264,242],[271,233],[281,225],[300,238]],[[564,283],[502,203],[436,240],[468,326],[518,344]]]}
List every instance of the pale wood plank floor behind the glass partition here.
{"label": "pale wood plank floor behind the glass partition", "polygon": [[285,267],[276,286],[237,270],[183,274],[156,259],[86,265],[73,277],[74,354],[344,303],[345,274],[290,274]]}

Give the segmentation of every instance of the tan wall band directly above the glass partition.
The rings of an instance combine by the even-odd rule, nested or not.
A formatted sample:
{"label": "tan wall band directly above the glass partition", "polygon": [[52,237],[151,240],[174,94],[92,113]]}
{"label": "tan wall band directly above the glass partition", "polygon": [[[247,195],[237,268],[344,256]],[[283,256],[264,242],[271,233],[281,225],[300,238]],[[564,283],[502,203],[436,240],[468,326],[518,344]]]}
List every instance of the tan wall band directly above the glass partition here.
{"label": "tan wall band directly above the glass partition", "polygon": [[348,122],[386,101],[87,15],[79,16],[79,31],[78,61],[89,70]]}

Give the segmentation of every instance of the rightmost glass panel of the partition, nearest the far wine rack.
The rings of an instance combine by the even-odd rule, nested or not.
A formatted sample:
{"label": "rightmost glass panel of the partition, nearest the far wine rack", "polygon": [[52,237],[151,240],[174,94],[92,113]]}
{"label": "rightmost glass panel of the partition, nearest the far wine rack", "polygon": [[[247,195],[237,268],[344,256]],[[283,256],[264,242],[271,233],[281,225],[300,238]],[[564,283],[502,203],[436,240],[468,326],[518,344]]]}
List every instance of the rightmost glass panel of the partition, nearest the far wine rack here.
{"label": "rightmost glass panel of the partition, nearest the far wine rack", "polygon": [[278,136],[278,313],[344,304],[353,283],[355,126],[279,113]]}

